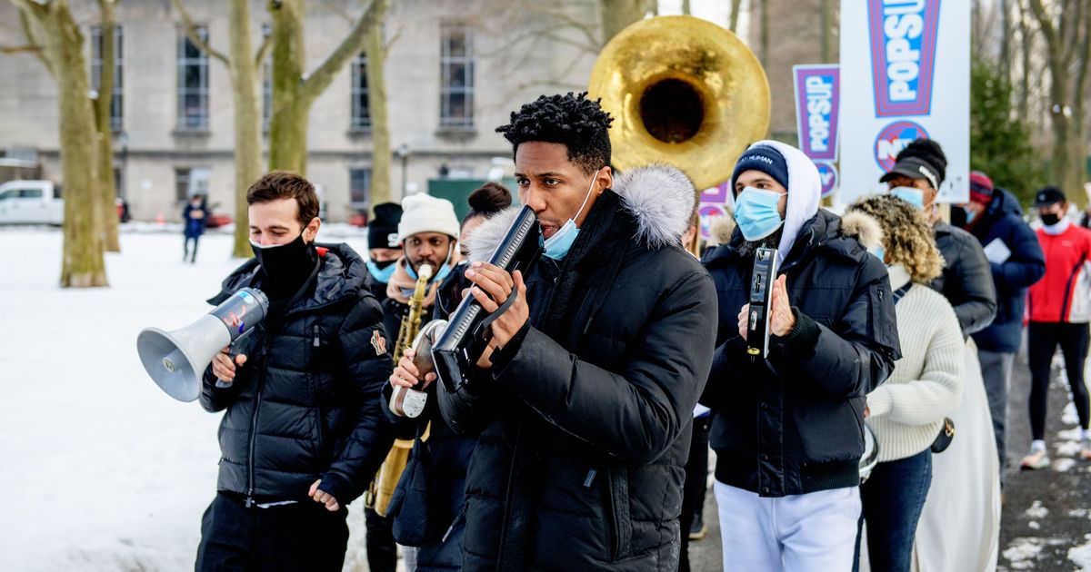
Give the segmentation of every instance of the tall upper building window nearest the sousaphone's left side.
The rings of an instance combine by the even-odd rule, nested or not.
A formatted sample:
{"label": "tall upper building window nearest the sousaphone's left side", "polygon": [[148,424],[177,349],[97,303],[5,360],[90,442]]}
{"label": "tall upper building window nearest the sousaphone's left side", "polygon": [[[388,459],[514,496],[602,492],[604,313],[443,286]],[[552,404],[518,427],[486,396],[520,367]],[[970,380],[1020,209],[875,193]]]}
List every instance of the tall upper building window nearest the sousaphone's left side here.
{"label": "tall upper building window nearest the sousaphone's left side", "polygon": [[471,129],[473,37],[463,24],[444,24],[440,37],[440,129]]}

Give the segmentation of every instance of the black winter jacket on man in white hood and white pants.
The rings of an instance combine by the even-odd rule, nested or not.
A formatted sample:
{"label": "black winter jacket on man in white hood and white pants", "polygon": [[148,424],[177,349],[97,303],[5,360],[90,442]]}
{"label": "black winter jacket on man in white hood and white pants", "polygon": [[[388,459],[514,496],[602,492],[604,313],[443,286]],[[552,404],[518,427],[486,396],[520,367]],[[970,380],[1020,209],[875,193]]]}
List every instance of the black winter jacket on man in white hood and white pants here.
{"label": "black winter jacket on man in white hood and white pants", "polygon": [[878,258],[819,210],[803,224],[780,275],[795,329],[752,360],[739,334],[753,256],[728,245],[706,254],[720,330],[702,403],[712,409],[716,478],[763,497],[856,486],[866,394],[901,357],[890,280]]}

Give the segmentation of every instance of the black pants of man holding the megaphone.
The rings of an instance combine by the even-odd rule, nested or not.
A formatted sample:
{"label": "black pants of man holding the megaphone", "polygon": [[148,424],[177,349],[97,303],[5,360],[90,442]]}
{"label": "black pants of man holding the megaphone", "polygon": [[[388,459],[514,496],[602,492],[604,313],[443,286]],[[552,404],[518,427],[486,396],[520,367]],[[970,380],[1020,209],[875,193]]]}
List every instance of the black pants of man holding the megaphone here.
{"label": "black pants of man holding the megaphone", "polygon": [[219,492],[201,519],[196,572],[340,572],[348,545],[348,511],[317,502],[247,508]]}

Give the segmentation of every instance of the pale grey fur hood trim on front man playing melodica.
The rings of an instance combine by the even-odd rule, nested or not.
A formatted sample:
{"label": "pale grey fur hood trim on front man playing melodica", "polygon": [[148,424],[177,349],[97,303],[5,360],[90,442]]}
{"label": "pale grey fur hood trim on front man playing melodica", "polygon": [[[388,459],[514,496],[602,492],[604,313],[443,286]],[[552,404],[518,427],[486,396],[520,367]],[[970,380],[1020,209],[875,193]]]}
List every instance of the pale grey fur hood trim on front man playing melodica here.
{"label": "pale grey fur hood trim on front man playing melodica", "polygon": [[[612,191],[621,197],[622,209],[636,220],[634,240],[652,250],[681,244],[697,199],[685,173],[668,165],[631,169],[614,177]],[[466,240],[469,260],[488,260],[518,212],[518,207],[503,210],[475,229]]]}

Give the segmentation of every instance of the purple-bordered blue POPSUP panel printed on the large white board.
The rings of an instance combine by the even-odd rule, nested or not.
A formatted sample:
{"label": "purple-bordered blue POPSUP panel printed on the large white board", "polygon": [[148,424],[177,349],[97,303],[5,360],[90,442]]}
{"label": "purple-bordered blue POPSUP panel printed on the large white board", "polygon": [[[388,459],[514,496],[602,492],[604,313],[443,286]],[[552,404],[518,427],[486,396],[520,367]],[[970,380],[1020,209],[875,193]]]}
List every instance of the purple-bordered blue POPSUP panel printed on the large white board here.
{"label": "purple-bordered blue POPSUP panel printed on the large white board", "polygon": [[932,113],[939,0],[868,0],[875,115]]}

